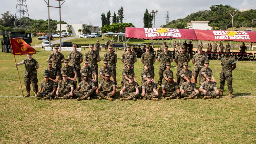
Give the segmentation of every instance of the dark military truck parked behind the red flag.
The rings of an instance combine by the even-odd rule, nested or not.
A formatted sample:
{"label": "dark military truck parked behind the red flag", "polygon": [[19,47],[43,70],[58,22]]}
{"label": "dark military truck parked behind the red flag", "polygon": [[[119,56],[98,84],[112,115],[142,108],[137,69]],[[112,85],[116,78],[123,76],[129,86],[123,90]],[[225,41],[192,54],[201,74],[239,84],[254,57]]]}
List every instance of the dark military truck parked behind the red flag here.
{"label": "dark military truck parked behind the red flag", "polygon": [[4,34],[4,37],[1,38],[1,45],[2,45],[2,52],[9,53],[12,52],[11,43],[9,38],[21,38],[30,45],[32,43],[32,37],[31,34],[25,33],[25,32],[8,32],[8,34]]}

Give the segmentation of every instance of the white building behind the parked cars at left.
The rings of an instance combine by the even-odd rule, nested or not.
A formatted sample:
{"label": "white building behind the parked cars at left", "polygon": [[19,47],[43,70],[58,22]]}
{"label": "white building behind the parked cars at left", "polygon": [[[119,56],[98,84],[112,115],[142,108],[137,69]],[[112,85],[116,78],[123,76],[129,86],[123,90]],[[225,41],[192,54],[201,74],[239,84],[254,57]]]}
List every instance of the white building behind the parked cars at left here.
{"label": "white building behind the parked cars at left", "polygon": [[[78,32],[78,29],[84,29],[84,28],[88,28],[91,31],[91,33],[97,33],[99,30],[99,27],[94,26],[92,23],[88,23],[88,25],[86,25],[86,24],[61,24],[61,30],[59,28],[59,24],[57,24],[57,30],[59,30],[59,31],[66,30],[66,32],[68,32],[68,30],[72,30],[72,36],[80,35],[80,33]],[[83,32],[81,32],[81,34],[83,34]]]}

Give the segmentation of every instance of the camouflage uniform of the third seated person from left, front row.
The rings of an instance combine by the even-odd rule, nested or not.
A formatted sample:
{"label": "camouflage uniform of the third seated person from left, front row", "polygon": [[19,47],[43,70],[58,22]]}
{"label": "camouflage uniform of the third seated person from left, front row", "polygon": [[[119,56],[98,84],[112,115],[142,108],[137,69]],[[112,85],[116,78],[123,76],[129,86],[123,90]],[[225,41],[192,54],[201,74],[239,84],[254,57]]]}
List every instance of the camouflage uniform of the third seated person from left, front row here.
{"label": "camouflage uniform of the third seated person from left, front row", "polygon": [[87,82],[83,80],[78,84],[78,87],[81,88],[81,91],[76,90],[74,92],[75,96],[84,97],[85,95],[87,95],[88,97],[90,97],[94,93],[94,91],[91,91],[91,89],[94,88],[95,85],[89,80]]}

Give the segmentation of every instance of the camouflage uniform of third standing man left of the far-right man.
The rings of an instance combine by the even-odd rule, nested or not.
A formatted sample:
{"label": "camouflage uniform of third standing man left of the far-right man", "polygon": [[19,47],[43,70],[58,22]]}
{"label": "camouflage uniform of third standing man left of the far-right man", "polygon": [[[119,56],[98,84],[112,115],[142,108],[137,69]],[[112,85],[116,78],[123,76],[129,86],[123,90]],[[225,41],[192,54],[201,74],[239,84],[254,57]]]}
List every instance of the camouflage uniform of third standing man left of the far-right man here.
{"label": "camouflage uniform of third standing man left of the far-right man", "polygon": [[160,86],[162,84],[162,80],[163,80],[163,71],[166,70],[165,63],[170,62],[170,60],[173,57],[172,57],[172,54],[167,51],[167,54],[165,54],[165,52],[160,53],[158,55],[158,58],[160,58],[160,66],[159,66],[159,71],[158,71],[158,75],[159,75],[158,85]]}

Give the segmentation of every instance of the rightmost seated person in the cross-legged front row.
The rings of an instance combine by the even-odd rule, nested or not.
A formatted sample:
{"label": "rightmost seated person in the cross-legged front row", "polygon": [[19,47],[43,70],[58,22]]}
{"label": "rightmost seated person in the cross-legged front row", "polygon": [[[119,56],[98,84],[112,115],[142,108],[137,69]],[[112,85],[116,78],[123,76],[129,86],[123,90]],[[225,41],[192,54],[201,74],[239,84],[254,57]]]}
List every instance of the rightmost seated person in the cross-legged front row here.
{"label": "rightmost seated person in the cross-legged front row", "polygon": [[[214,90],[215,91],[214,91]],[[204,81],[199,90],[201,91],[201,95],[203,96],[203,99],[208,99],[208,98],[220,98],[218,95],[220,94],[219,90],[216,87],[216,83],[211,81],[211,77],[208,76],[206,78],[206,81]]]}

